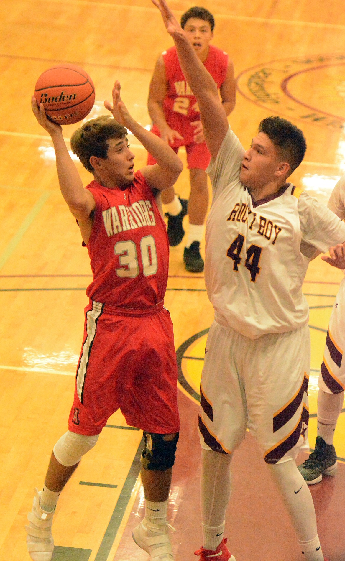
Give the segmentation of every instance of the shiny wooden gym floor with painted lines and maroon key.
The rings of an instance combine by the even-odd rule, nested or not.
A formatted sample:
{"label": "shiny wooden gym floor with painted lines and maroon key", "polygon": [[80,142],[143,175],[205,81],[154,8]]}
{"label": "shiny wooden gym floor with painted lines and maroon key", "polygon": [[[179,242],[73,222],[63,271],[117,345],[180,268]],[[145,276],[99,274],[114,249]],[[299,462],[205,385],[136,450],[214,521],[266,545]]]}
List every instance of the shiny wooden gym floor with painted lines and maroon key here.
{"label": "shiny wooden gym floor with painted lines and maroon key", "polygon": [[[300,126],[305,162],[292,181],[326,201],[345,172],[345,13],[341,0],[203,0],[216,20],[214,44],[234,61],[237,104],[229,117],[242,144],[277,113]],[[177,15],[194,5],[173,0]],[[149,0],[12,0],[0,4],[0,559],[28,561],[24,525],[33,489],[42,487],[53,444],[67,430],[79,356],[88,254],[59,193],[49,137],[30,96],[37,77],[57,62],[91,75],[96,103],[121,81],[123,99],[142,125],[155,59],[172,44]],[[75,126],[66,126],[66,141]],[[145,150],[130,137],[136,168]],[[185,154],[181,151],[185,161]],[[80,172],[84,183],[87,172]],[[186,169],[177,192],[188,197]],[[185,219],[186,229],[188,219]],[[201,545],[196,434],[200,372],[213,312],[203,275],[185,272],[183,243],[171,249],[165,304],[174,322],[180,366],[181,439],[169,519],[177,561]],[[304,291],[310,304],[312,364],[310,444],[316,434],[317,376],[326,328],[342,273],[312,262]],[[319,534],[329,561],[345,560],[345,416],[335,434],[339,470],[312,488]],[[68,482],[53,525],[54,561],[145,561],[131,530],[142,516],[141,433],[116,413],[97,446]],[[305,456],[300,458],[301,461]],[[227,514],[237,561],[300,561],[291,525],[256,444],[246,438],[233,460]]]}

